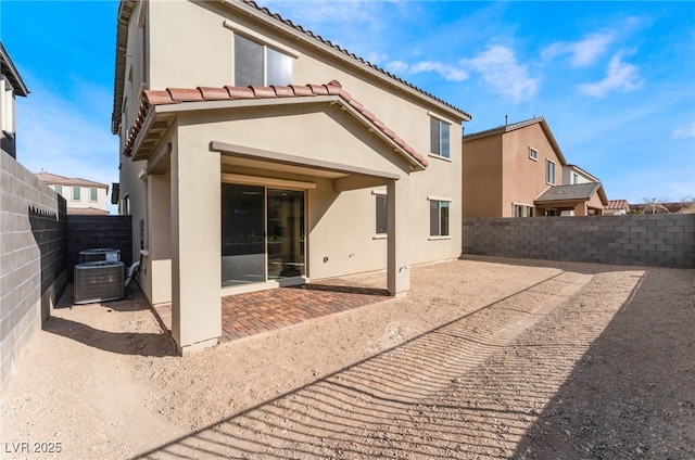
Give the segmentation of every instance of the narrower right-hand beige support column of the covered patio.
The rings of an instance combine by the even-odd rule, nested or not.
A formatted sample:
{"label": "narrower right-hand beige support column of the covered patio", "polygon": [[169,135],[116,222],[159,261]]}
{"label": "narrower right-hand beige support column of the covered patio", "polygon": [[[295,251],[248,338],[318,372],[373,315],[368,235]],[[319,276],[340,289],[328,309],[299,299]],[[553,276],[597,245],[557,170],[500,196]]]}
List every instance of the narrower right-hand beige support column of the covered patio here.
{"label": "narrower right-hand beige support column of the covered patio", "polygon": [[404,295],[410,289],[408,183],[390,180],[387,184],[389,250],[387,277],[389,294]]}

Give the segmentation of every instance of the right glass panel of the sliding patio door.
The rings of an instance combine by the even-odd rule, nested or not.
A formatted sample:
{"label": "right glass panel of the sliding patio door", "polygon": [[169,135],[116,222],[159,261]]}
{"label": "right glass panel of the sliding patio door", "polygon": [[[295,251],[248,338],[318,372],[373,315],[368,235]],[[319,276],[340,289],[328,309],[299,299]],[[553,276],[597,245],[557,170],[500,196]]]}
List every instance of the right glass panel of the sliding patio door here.
{"label": "right glass panel of the sliding patio door", "polygon": [[268,279],[300,277],[304,266],[304,192],[268,189]]}

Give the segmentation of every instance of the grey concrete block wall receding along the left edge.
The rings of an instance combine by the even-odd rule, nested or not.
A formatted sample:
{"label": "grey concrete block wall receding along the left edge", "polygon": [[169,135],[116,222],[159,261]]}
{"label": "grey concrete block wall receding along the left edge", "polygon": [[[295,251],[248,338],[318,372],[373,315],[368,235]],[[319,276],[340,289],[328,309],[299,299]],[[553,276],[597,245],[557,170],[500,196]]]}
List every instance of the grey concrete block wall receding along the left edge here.
{"label": "grey concrete block wall receding along the left edge", "polygon": [[0,385],[67,283],[65,200],[0,152]]}

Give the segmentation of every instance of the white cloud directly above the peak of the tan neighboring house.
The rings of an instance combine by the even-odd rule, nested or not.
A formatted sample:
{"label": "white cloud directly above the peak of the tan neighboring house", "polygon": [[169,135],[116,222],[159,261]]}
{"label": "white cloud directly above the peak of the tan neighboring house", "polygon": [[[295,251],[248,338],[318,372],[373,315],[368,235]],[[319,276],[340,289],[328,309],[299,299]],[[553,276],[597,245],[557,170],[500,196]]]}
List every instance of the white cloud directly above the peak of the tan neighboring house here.
{"label": "white cloud directly above the peak of the tan neighboring house", "polygon": [[538,93],[539,79],[529,75],[528,66],[519,64],[509,48],[494,46],[462,63],[480,73],[496,93],[516,103]]}

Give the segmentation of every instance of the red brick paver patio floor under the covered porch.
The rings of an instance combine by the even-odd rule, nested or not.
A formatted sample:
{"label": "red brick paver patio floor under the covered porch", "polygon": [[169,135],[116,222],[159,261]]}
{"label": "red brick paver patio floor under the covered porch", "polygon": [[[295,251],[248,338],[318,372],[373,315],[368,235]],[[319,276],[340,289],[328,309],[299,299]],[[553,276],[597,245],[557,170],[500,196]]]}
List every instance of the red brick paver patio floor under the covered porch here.
{"label": "red brick paver patio floor under the covered porch", "polygon": [[[389,298],[389,293],[386,289],[330,283],[278,288],[222,297],[219,343],[274,331],[387,298]],[[170,304],[155,306],[155,310],[164,325],[170,331]]]}

